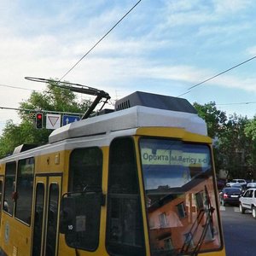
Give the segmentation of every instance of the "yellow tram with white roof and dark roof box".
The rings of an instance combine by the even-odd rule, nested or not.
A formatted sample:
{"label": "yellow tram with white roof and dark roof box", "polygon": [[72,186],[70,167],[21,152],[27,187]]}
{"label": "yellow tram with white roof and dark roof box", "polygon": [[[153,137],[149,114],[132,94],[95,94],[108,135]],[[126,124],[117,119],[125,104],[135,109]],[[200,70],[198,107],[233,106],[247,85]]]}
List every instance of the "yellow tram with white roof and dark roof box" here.
{"label": "yellow tram with white roof and dark roof box", "polygon": [[0,255],[225,255],[206,123],[135,92],[0,160]]}

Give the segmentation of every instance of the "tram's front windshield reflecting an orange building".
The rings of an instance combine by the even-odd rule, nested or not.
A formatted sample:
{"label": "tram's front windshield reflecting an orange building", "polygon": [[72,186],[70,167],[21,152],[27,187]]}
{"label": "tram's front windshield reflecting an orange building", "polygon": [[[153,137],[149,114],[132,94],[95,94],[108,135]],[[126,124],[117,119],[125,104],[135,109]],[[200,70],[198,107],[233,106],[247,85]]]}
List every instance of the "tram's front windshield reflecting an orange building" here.
{"label": "tram's front windshield reflecting an orange building", "polygon": [[151,255],[196,255],[221,247],[207,145],[141,138]]}

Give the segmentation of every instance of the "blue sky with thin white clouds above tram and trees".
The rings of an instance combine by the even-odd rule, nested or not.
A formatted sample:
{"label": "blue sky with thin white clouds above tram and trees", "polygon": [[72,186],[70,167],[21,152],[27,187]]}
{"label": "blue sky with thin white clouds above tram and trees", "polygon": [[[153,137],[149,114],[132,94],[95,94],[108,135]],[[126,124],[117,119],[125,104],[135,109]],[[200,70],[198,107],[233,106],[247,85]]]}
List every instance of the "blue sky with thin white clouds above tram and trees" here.
{"label": "blue sky with thin white clouds above tram and trees", "polygon": [[[19,108],[32,90],[44,90],[26,76],[60,79],[136,3],[1,1],[0,107]],[[253,0],[142,0],[65,80],[113,101],[136,90],[185,93],[191,103],[253,118],[256,59],[188,89],[256,55],[255,11]],[[0,109],[0,131],[7,119],[19,123],[15,111]]]}

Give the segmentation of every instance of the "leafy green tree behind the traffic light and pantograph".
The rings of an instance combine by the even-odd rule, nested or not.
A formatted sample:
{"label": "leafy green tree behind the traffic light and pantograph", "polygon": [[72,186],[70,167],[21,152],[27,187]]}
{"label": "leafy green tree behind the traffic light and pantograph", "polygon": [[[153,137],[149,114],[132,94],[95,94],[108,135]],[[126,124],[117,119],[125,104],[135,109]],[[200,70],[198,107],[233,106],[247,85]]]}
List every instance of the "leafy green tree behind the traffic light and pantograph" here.
{"label": "leafy green tree behind the traffic light and pantograph", "polygon": [[[55,81],[52,81],[47,84],[47,88],[43,92],[33,91],[26,102],[20,103],[20,109],[31,109],[32,111],[41,109],[49,111],[49,113],[50,111],[84,113],[90,106],[90,100],[78,102],[73,91],[55,85]],[[45,128],[36,129],[35,119],[30,119],[28,113],[29,111],[20,110],[20,124],[15,125],[12,120],[9,120],[3,128],[3,134],[0,137],[0,157],[11,154],[20,144],[42,145],[48,143],[51,131]]]}

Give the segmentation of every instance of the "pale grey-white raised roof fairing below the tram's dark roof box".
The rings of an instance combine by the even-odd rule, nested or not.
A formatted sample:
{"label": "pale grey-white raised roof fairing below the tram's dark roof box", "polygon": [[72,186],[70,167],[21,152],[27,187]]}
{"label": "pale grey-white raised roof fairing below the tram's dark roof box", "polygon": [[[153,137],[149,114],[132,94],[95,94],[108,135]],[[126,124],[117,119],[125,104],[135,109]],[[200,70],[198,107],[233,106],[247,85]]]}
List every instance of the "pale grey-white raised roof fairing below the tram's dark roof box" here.
{"label": "pale grey-white raised roof fairing below the tram's dark roof box", "polygon": [[62,126],[50,134],[49,143],[149,126],[180,127],[186,131],[207,135],[207,125],[196,113],[136,106]]}

